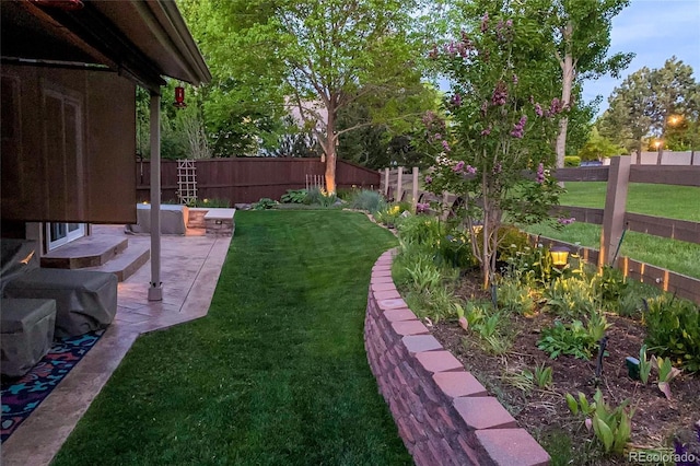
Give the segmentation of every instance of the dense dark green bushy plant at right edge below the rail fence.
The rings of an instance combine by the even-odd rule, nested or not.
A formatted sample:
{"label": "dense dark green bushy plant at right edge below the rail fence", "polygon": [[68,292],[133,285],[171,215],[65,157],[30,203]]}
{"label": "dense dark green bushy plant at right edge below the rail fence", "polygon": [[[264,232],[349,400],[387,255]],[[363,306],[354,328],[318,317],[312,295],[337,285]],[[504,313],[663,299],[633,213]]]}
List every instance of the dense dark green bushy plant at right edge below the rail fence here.
{"label": "dense dark green bushy plant at right edge below the rail fence", "polygon": [[687,300],[662,294],[650,299],[642,315],[644,342],[658,356],[690,373],[700,371],[700,311]]}

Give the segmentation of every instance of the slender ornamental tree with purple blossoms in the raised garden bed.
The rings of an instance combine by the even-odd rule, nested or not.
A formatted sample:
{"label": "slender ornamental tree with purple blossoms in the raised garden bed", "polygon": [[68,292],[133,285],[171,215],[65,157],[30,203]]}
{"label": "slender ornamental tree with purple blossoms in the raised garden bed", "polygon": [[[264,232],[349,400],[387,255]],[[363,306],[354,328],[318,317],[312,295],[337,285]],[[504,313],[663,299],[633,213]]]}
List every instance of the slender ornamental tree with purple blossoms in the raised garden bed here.
{"label": "slender ornamental tree with purple blossoms in the raised garden bed", "polygon": [[434,113],[423,118],[436,155],[425,186],[464,200],[457,214],[485,288],[493,279],[504,221],[525,225],[547,219],[560,193],[547,167],[555,162],[564,107],[556,97],[557,77],[547,72],[546,60],[537,60],[545,36],[537,23],[501,11],[485,13],[470,33],[431,51],[452,92],[444,118]]}

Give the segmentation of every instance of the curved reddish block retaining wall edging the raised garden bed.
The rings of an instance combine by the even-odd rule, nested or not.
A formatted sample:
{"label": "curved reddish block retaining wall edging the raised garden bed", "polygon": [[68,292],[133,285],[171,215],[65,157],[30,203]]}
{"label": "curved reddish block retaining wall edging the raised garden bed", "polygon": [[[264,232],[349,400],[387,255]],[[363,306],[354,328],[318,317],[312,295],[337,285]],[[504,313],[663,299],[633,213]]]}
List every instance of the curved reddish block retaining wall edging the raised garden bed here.
{"label": "curved reddish block retaining wall edging the raised garden bed", "polygon": [[372,269],[364,345],[416,464],[548,465],[547,452],[408,308],[392,279],[393,255]]}

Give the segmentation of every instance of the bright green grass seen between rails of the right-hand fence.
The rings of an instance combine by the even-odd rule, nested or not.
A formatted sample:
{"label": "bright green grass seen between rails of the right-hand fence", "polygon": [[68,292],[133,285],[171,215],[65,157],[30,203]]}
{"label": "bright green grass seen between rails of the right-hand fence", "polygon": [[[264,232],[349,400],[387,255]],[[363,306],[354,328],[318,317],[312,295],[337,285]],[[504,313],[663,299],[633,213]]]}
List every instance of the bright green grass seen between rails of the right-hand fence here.
{"label": "bright green grass seen between rails of the right-hand fence", "polygon": [[[579,207],[605,207],[606,183],[568,182],[561,205]],[[634,213],[700,222],[700,188],[632,183],[629,187],[627,210]],[[526,229],[529,233],[581,243],[599,248],[600,225],[575,222],[557,230],[547,225]],[[687,243],[627,232],[620,247],[620,256],[700,278],[700,244]]]}

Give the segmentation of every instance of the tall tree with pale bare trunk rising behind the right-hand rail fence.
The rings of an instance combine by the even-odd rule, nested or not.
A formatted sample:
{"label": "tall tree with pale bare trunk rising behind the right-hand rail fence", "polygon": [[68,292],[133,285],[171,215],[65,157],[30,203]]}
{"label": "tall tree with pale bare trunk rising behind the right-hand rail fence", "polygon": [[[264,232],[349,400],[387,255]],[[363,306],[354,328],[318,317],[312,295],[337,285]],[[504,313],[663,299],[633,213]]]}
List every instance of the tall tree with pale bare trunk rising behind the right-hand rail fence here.
{"label": "tall tree with pale bare trunk rising behind the right-hand rail fence", "polygon": [[[629,0],[528,0],[525,11],[545,26],[553,55],[560,67],[561,103],[573,107],[575,84],[584,79],[596,79],[611,73],[618,77],[628,67],[633,54],[608,57],[610,30],[615,18]],[[557,166],[564,166],[569,118],[559,121],[557,137]]]}

